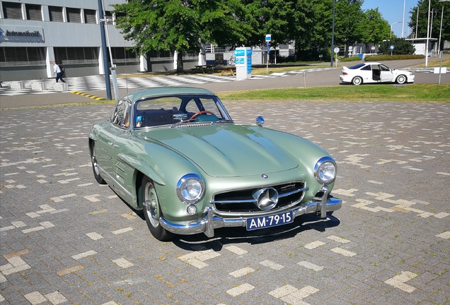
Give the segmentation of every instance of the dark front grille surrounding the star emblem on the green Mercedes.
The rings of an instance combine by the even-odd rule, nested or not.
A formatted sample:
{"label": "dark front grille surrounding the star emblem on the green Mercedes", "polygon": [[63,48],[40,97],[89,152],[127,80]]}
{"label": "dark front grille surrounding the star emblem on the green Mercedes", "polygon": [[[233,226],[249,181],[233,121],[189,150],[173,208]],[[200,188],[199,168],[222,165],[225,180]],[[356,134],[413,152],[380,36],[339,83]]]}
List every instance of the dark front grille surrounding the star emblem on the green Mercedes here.
{"label": "dark front grille surrounding the star emblem on the green Mercedes", "polygon": [[304,181],[287,182],[275,186],[262,186],[255,189],[241,189],[214,195],[212,204],[221,213],[261,212],[253,198],[253,193],[265,187],[272,187],[278,192],[278,203],[272,210],[299,203],[307,190]]}

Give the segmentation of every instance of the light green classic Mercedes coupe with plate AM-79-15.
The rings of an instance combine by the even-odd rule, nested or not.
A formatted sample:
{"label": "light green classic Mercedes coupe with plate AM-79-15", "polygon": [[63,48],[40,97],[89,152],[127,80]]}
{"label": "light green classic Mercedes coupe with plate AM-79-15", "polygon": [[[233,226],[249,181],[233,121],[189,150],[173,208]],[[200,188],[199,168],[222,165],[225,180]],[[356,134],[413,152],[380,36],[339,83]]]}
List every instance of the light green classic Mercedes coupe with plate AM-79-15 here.
{"label": "light green classic Mercedes coupe with plate AM-79-15", "polygon": [[214,236],[221,227],[284,225],[341,207],[330,195],[336,164],[289,133],[233,123],[213,92],[154,88],[122,97],[93,124],[93,174],[136,210],[151,234]]}

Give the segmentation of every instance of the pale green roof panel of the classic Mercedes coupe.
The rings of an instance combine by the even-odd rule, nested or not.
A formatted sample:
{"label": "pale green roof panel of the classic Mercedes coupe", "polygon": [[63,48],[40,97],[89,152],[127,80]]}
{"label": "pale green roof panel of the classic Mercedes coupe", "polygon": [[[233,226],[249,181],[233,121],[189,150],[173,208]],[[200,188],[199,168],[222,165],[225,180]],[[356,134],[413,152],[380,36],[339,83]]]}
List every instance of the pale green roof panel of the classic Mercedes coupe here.
{"label": "pale green roof panel of the classic Mercedes coupe", "polygon": [[127,99],[134,102],[147,97],[158,97],[163,95],[215,95],[215,94],[214,92],[202,88],[158,87],[129,92],[126,95],[124,95],[122,99]]}

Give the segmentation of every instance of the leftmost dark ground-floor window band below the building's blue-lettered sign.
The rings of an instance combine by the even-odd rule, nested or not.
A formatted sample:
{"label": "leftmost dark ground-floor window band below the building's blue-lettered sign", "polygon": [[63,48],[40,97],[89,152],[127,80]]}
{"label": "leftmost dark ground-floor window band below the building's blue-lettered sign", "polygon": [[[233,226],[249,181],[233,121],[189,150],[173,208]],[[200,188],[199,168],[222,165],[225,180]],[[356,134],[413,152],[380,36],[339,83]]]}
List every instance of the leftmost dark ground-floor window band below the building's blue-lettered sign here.
{"label": "leftmost dark ground-floor window band below the building's blue-lettered sign", "polygon": [[45,65],[45,47],[0,47],[0,66]]}

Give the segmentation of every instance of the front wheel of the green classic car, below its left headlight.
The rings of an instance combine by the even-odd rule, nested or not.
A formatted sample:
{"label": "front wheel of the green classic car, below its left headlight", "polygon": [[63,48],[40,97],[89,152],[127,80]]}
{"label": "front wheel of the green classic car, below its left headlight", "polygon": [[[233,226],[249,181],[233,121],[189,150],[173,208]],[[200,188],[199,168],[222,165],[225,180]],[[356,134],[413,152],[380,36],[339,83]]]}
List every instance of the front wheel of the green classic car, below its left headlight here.
{"label": "front wheel of the green classic car, below its left headlight", "polygon": [[159,218],[162,216],[161,207],[159,205],[158,196],[156,195],[155,186],[147,177],[142,179],[140,201],[151,234],[160,241],[171,239],[173,233],[168,232],[159,224]]}

